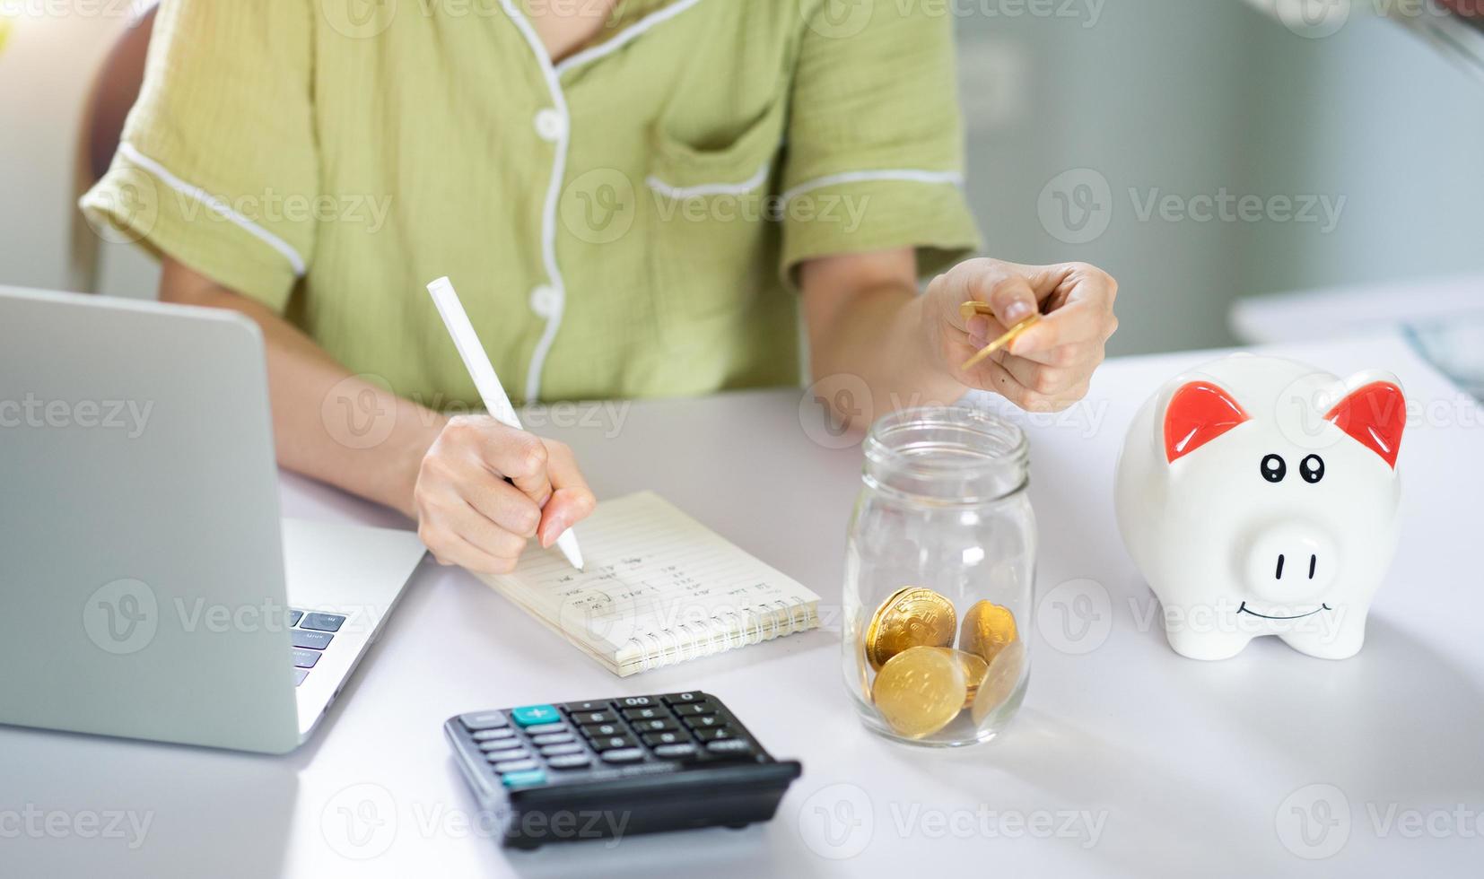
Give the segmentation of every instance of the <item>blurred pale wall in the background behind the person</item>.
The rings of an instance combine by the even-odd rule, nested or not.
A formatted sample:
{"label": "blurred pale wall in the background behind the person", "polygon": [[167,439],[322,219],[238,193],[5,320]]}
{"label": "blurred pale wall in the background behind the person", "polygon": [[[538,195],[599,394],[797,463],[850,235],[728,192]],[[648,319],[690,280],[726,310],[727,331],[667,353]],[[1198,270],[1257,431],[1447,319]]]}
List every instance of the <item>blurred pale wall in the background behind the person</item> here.
{"label": "blurred pale wall in the background behind the person", "polygon": [[[1114,353],[1227,344],[1241,295],[1484,268],[1484,170],[1471,162],[1484,154],[1484,84],[1364,15],[1377,0],[1324,39],[1238,0],[879,1],[956,16],[988,252],[1117,276]],[[0,283],[67,286],[77,117],[126,12],[126,0],[0,0]],[[1082,243],[1040,218],[1048,182],[1073,169],[1109,187],[1107,228]],[[1141,219],[1129,188],[1180,205],[1223,188],[1346,202],[1325,231]],[[105,248],[104,267],[104,292],[153,293],[138,252]]]}

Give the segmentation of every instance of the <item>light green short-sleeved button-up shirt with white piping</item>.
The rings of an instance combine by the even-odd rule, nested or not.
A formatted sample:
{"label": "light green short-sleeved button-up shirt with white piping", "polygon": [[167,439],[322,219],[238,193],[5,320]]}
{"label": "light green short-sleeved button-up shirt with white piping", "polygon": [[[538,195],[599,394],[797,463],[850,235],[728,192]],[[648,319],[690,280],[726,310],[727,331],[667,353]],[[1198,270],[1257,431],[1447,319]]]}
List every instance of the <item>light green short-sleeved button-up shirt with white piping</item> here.
{"label": "light green short-sleeved button-up shirt with white piping", "polygon": [[433,408],[444,274],[515,397],[789,384],[801,261],[978,243],[947,12],[625,0],[552,65],[510,0],[165,0],[82,206]]}

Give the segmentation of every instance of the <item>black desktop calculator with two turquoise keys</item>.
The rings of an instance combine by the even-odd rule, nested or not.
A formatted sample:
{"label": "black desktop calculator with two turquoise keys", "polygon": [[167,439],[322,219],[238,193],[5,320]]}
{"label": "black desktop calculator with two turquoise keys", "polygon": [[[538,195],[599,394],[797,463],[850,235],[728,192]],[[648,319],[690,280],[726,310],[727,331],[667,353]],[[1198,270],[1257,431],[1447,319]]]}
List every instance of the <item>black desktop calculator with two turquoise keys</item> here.
{"label": "black desktop calculator with two turquoise keys", "polygon": [[767,821],[803,771],[700,691],[475,712],[444,732],[515,848]]}

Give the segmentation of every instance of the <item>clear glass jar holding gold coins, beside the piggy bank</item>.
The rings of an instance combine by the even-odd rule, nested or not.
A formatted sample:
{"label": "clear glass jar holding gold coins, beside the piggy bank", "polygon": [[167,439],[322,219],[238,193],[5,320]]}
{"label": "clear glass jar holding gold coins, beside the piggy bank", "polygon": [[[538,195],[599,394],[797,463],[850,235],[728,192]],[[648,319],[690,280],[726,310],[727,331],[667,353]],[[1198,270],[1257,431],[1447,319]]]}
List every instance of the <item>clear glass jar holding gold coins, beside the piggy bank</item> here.
{"label": "clear glass jar holding gold coins, beside the piggy bank", "polygon": [[841,637],[868,729],[953,747],[994,738],[1015,714],[1030,676],[1028,467],[1024,431],[978,409],[902,409],[871,425]]}

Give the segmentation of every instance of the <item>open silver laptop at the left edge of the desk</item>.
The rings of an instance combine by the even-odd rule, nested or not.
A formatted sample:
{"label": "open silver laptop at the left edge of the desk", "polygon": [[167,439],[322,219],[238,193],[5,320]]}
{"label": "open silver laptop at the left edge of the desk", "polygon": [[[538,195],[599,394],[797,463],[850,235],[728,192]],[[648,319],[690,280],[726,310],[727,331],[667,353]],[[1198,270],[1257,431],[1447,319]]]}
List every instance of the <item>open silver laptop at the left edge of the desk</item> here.
{"label": "open silver laptop at the left edge of the desk", "polygon": [[279,517],[245,316],[0,288],[0,723],[291,752],[423,556]]}

